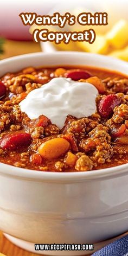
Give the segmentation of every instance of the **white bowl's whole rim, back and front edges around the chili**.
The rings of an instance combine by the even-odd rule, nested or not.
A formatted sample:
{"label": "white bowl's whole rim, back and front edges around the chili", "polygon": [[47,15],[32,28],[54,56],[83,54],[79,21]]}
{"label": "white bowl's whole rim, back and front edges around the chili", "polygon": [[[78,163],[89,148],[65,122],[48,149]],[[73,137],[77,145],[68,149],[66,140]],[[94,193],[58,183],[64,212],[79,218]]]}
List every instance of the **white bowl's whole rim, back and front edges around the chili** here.
{"label": "white bowl's whole rim, back and front edges around the chili", "polygon": [[[8,64],[11,61],[18,61],[20,59],[28,58],[28,57],[38,57],[38,56],[48,56],[48,55],[85,55],[92,57],[98,57],[100,60],[107,60],[112,61],[113,63],[122,63],[123,65],[127,65],[127,62],[118,60],[114,57],[100,55],[100,54],[93,54],[93,53],[85,53],[85,52],[53,52],[53,53],[29,53],[23,55],[17,55],[14,57],[9,57],[8,59],[4,59],[0,61],[0,66],[2,64]],[[47,65],[46,65],[47,66]],[[49,65],[48,65],[49,66]],[[64,66],[64,65],[63,65]],[[82,65],[81,65],[82,66]],[[87,66],[87,65],[86,65]],[[108,68],[106,68],[108,69]],[[109,70],[109,69],[108,69]],[[110,69],[111,71],[113,69]],[[122,72],[120,72],[123,74]],[[127,75],[126,73],[124,73]],[[22,179],[29,179],[29,180],[37,180],[37,181],[51,181],[51,182],[85,182],[89,180],[95,179],[104,179],[105,177],[113,177],[113,176],[122,176],[127,175],[128,163],[121,164],[116,167],[109,167],[104,169],[92,170],[92,171],[78,171],[78,172],[50,172],[50,171],[39,171],[39,170],[31,170],[31,169],[24,169],[19,167],[14,167],[13,165],[8,165],[4,163],[0,163],[0,174],[1,175],[8,175],[14,176],[15,178],[22,178]]]}

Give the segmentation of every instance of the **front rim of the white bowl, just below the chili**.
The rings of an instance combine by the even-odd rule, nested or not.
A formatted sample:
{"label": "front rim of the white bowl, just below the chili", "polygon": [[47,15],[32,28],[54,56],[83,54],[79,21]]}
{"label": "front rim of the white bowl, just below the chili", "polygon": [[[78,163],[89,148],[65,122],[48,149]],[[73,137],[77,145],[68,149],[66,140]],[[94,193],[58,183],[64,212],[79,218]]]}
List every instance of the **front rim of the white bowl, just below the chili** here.
{"label": "front rim of the white bowl, just below the chili", "polygon": [[37,182],[88,182],[92,180],[105,180],[105,178],[113,178],[128,175],[128,163],[121,164],[116,167],[92,171],[75,171],[75,172],[50,172],[24,169],[0,163],[0,175],[10,176],[22,180],[32,180]]}

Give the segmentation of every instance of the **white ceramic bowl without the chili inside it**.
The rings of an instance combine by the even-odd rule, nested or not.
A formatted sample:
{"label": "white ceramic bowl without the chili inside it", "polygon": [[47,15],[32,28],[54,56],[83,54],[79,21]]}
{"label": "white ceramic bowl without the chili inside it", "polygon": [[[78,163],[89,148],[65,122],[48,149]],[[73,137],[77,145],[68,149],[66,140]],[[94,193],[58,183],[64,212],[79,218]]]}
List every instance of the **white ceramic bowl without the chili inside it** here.
{"label": "white ceramic bowl without the chili inside it", "polygon": [[[128,74],[127,63],[120,60],[55,52],[2,60],[0,76],[27,66],[53,65],[94,66]],[[38,244],[97,243],[112,238],[128,229],[127,182],[128,164],[96,171],[53,173],[0,163],[0,229]],[[25,242],[23,247],[27,247]]]}

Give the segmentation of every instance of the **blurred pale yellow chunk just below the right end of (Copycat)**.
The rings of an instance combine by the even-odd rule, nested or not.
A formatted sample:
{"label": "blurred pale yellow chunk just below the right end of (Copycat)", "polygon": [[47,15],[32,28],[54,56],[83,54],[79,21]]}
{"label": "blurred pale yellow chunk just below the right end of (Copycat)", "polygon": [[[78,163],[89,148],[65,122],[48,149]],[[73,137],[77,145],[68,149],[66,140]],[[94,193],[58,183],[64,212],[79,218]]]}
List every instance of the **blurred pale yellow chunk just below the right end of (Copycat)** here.
{"label": "blurred pale yellow chunk just below the right end of (Copycat)", "polygon": [[78,45],[85,52],[99,54],[108,54],[108,52],[110,52],[110,44],[103,35],[96,35],[95,41],[92,44],[88,42],[78,42]]}

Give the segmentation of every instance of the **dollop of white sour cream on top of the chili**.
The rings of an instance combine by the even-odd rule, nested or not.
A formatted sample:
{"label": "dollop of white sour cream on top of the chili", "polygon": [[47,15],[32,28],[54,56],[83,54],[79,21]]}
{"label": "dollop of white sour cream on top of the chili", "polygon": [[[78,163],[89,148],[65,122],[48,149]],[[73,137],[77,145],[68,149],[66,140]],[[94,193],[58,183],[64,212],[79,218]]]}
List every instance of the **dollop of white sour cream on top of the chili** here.
{"label": "dollop of white sour cream on top of the chili", "polygon": [[21,101],[20,107],[30,119],[38,118],[43,114],[61,129],[68,114],[81,118],[95,113],[97,95],[97,88],[88,82],[54,78],[31,91]]}

